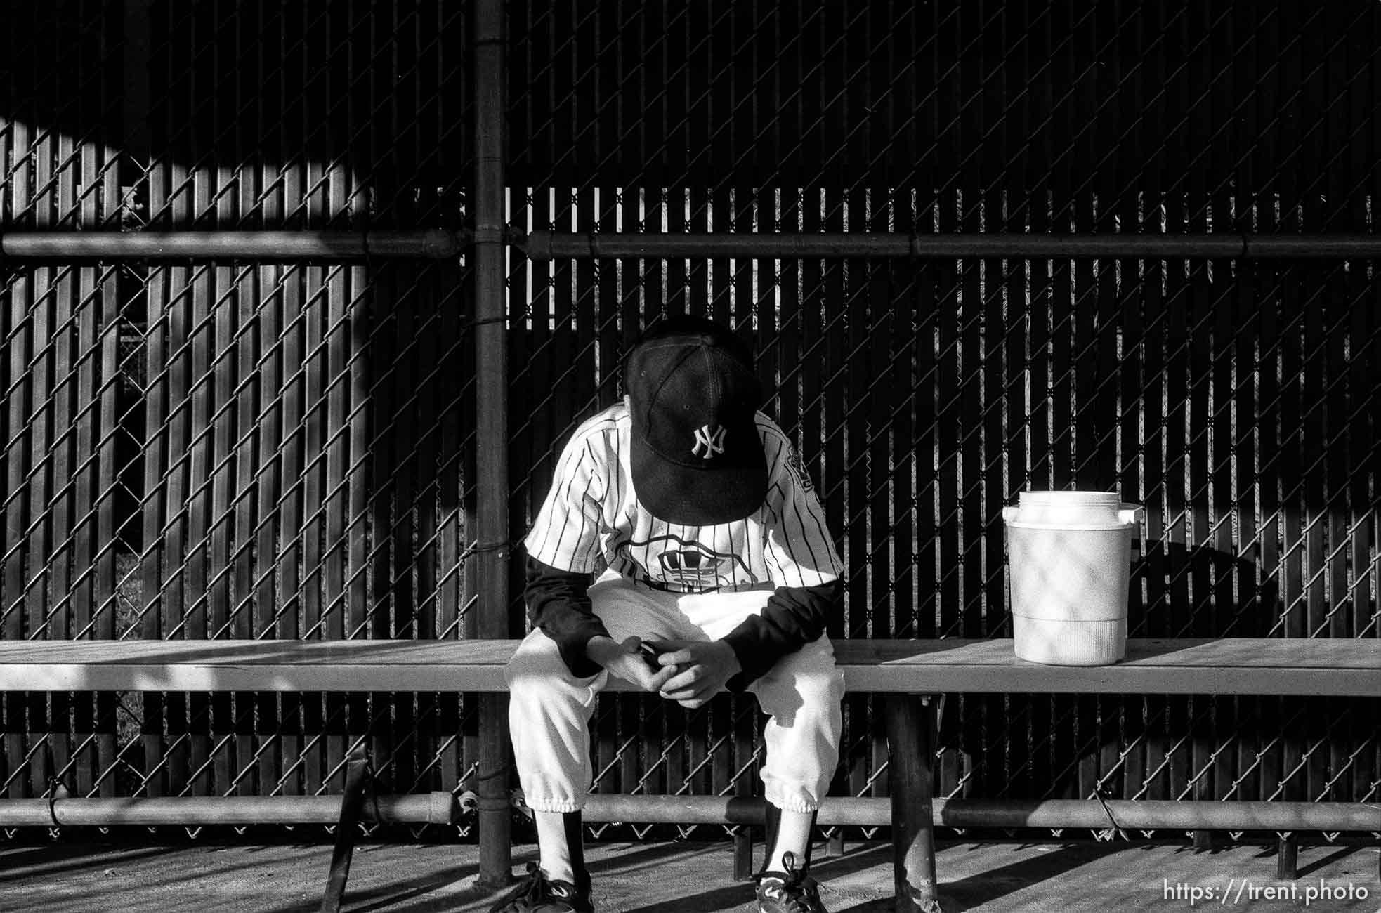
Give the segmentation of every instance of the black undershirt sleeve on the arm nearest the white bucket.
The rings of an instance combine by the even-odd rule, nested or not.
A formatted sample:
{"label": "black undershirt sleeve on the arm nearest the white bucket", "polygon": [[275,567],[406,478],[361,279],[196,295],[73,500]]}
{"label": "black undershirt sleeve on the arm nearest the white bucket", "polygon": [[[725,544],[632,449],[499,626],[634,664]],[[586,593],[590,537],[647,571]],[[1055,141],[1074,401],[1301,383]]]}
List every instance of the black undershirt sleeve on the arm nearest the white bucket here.
{"label": "black undershirt sleeve on the arm nearest the white bucket", "polygon": [[743,691],[779,659],[820,637],[842,597],[842,580],[815,587],[778,587],[761,615],[744,619],[724,637],[742,667],[729,680],[729,691]]}

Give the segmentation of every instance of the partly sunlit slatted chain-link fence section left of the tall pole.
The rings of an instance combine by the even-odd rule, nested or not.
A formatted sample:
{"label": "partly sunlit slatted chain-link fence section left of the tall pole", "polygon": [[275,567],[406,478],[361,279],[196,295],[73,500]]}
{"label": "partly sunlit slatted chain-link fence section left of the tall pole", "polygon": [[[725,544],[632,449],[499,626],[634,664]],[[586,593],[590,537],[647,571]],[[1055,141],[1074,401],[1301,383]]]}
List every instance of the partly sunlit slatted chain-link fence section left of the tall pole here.
{"label": "partly sunlit slatted chain-link fence section left of the tall pole", "polygon": [[[458,228],[463,14],[11,11],[4,227]],[[465,275],[7,265],[4,637],[463,637]],[[398,789],[468,768],[454,696],[7,700],[10,796],[326,791],[365,738]]]}

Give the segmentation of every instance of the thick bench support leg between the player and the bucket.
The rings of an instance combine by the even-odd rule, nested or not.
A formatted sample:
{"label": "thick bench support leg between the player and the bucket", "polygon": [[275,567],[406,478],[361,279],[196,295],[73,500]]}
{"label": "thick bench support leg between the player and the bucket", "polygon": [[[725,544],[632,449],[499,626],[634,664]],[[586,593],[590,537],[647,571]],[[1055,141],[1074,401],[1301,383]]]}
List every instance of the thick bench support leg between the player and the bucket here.
{"label": "thick bench support leg between the player and the bucket", "polygon": [[896,913],[939,913],[932,764],[935,703],[887,695]]}

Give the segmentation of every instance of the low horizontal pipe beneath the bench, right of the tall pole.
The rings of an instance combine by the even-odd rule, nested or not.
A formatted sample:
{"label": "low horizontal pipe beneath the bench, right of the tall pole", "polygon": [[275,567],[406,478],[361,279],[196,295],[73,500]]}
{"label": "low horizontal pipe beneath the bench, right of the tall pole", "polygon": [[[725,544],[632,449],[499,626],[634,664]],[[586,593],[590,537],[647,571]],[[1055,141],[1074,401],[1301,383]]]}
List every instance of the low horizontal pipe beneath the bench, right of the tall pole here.
{"label": "low horizontal pipe beneath the bench, right of the tall pole", "polygon": [[[591,822],[761,825],[764,800],[732,796],[590,796]],[[1112,818],[1109,819],[1109,815]],[[887,826],[888,798],[826,798],[820,825]],[[1174,800],[935,800],[934,822],[949,827],[1175,827],[1211,830],[1373,830],[1381,805],[1364,803],[1210,803]]]}

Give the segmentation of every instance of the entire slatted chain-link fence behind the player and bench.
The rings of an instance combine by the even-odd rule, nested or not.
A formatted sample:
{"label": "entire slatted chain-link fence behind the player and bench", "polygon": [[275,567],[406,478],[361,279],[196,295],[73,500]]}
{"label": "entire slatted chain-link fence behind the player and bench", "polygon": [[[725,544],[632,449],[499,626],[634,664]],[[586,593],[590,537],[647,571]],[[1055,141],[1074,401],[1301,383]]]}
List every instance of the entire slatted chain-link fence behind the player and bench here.
{"label": "entire slatted chain-link fence behind the player and bench", "polygon": [[[0,231],[465,224],[464,4],[6,18]],[[1375,4],[525,1],[508,30],[521,231],[1375,233]],[[464,258],[0,267],[0,635],[471,633]],[[1000,508],[1076,485],[1146,506],[1134,637],[1381,637],[1378,289],[1364,260],[512,251],[511,537],[627,344],[692,311],[755,341],[849,568],[833,637],[1010,637]],[[10,797],[338,791],[362,740],[389,789],[458,793],[476,757],[468,696],[4,700]],[[750,794],[760,724],[603,698],[595,787]],[[938,791],[1375,801],[1377,729],[1374,700],[957,695]],[[887,794],[869,696],[833,791]]]}

